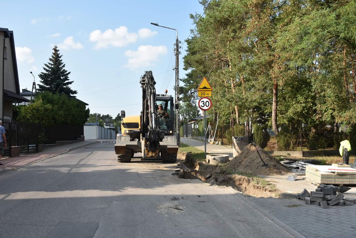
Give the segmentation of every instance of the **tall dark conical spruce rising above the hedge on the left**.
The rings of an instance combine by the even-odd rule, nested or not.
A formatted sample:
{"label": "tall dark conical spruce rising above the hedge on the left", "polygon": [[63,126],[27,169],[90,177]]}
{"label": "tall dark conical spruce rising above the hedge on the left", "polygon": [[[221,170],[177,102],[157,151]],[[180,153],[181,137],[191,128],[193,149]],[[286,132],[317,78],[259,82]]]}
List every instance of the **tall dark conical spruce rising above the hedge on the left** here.
{"label": "tall dark conical spruce rising above the hedge on the left", "polygon": [[77,94],[77,90],[72,90],[69,87],[73,81],[69,81],[68,76],[70,72],[64,69],[66,64],[62,62],[61,58],[62,55],[59,54],[59,49],[55,45],[53,47],[52,57],[49,58],[49,62],[43,67],[44,72],[38,74],[38,77],[41,79],[41,84],[38,84],[38,90],[40,92],[64,93],[68,96]]}

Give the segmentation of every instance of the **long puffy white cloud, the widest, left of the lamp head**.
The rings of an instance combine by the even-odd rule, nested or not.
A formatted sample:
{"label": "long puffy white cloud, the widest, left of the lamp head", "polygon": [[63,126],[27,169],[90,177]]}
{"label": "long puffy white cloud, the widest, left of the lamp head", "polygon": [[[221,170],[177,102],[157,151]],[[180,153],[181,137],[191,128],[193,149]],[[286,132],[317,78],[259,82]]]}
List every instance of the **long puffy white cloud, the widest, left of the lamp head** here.
{"label": "long puffy white cloud, the widest, left of the lamp head", "polygon": [[126,26],[120,26],[115,30],[108,29],[105,32],[95,30],[90,33],[89,40],[96,42],[95,48],[108,48],[108,46],[123,47],[137,41],[137,38],[147,38],[157,34],[150,29],[140,29],[138,33],[129,32]]}

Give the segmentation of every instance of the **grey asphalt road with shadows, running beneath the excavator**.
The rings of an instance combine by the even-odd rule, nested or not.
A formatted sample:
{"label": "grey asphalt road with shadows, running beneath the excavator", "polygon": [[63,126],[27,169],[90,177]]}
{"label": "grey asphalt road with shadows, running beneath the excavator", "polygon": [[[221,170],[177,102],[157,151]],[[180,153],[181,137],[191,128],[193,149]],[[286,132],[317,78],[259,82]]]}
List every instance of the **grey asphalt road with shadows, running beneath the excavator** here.
{"label": "grey asphalt road with shadows, running beneath the excavator", "polygon": [[118,163],[106,141],[3,174],[0,237],[293,237],[232,188],[178,179],[177,169]]}

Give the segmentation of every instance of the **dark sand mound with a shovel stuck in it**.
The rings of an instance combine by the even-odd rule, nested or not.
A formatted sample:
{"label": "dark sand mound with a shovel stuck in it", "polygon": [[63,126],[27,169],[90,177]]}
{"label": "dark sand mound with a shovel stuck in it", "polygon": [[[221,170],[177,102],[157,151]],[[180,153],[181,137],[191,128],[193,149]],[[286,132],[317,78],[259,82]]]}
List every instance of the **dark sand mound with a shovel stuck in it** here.
{"label": "dark sand mound with a shovel stuck in it", "polygon": [[[262,160],[268,164],[268,167],[262,166],[263,162],[258,156],[257,150],[260,152]],[[238,156],[226,164],[226,169],[254,175],[286,174],[289,172],[286,166],[267,154],[260,146],[257,146],[257,150],[252,144],[247,145]]]}

